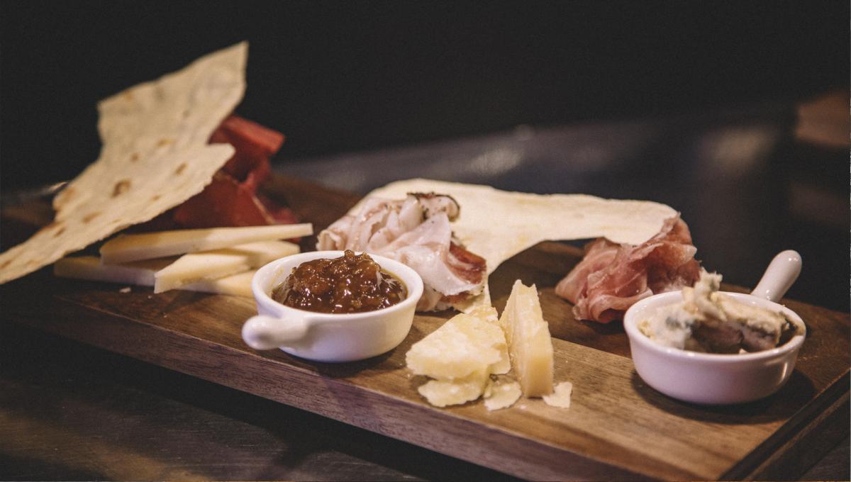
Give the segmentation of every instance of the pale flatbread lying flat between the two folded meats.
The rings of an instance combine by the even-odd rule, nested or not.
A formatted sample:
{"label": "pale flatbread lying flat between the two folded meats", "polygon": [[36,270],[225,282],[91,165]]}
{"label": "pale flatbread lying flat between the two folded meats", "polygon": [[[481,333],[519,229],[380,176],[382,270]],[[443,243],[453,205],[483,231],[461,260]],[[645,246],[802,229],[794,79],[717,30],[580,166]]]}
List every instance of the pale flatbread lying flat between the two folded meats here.
{"label": "pale flatbread lying flat between the two folded meats", "polygon": [[[641,244],[659,232],[672,207],[653,201],[622,201],[583,194],[529,194],[497,190],[480,184],[430,179],[393,182],[369,196],[402,199],[409,192],[448,194],[460,204],[452,224],[466,249],[488,262],[488,274],[506,259],[540,241],[606,237]],[[355,213],[359,206],[351,208]]]}

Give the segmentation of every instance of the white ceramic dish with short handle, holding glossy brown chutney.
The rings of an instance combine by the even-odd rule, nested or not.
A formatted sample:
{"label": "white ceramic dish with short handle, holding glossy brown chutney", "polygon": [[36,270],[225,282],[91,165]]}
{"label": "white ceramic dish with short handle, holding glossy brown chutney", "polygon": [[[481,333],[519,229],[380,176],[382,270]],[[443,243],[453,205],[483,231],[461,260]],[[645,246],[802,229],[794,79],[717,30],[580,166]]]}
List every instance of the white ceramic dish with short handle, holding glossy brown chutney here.
{"label": "white ceramic dish with short handle, holding glossy brown chutney", "polygon": [[351,314],[315,313],[284,306],[271,291],[299,264],[317,258],[340,258],[342,251],[317,251],[277,259],[257,270],[251,283],[257,316],[243,325],[243,340],[253,349],[280,348],[316,361],[353,361],[386,353],[402,343],[414,321],[423,282],[414,269],[392,259],[369,256],[397,276],[408,297],[393,306]]}

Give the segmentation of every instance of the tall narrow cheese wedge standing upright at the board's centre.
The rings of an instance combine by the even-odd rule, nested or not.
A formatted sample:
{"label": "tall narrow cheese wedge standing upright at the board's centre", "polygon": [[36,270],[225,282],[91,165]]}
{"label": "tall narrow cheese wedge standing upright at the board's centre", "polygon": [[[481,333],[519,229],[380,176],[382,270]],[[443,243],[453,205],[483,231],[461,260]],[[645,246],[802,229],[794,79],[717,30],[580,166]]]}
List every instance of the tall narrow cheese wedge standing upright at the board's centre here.
{"label": "tall narrow cheese wedge standing upright at the board's centre", "polygon": [[523,286],[520,280],[511,287],[511,295],[500,317],[505,331],[511,366],[527,397],[552,393],[552,340],[540,311],[538,290]]}

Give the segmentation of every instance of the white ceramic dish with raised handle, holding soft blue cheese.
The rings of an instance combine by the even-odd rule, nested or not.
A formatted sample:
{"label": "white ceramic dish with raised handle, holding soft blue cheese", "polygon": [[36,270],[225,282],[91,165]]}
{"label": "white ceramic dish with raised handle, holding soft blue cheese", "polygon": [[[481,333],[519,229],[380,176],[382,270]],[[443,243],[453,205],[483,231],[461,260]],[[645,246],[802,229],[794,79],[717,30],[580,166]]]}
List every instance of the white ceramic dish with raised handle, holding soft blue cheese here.
{"label": "white ceramic dish with raised handle, holding soft blue cheese", "polygon": [[682,293],[661,293],[635,303],[626,311],[624,328],[638,375],[663,394],[706,405],[742,403],[774,394],[795,368],[806,327],[794,311],[767,298],[782,298],[800,271],[800,255],[781,252],[751,294],[725,292],[741,303],[780,310],[797,323],[799,333],[791,340],[760,352],[706,354],[662,346],[639,331],[638,322],[661,306],[682,301]]}

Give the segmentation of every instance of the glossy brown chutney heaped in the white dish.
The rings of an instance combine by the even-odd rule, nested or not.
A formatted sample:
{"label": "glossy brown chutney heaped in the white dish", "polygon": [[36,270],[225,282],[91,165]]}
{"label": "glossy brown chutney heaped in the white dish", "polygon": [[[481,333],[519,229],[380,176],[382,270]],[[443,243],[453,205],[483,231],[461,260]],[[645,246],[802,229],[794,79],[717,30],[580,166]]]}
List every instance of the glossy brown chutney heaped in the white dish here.
{"label": "glossy brown chutney heaped in the white dish", "polygon": [[362,313],[387,308],[407,296],[404,283],[368,254],[351,250],[340,258],[302,263],[271,292],[292,308],[319,313]]}

